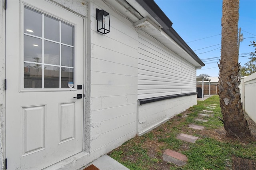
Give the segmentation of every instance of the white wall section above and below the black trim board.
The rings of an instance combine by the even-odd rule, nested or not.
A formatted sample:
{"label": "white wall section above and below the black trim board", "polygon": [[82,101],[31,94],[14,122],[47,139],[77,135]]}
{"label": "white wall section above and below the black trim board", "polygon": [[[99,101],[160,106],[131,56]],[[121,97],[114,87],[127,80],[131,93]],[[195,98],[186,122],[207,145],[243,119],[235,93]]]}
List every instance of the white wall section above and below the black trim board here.
{"label": "white wall section above and below the black trim board", "polygon": [[[138,99],[196,92],[196,68],[156,40],[141,33],[138,46]],[[138,134],[196,105],[196,95],[138,107]]]}

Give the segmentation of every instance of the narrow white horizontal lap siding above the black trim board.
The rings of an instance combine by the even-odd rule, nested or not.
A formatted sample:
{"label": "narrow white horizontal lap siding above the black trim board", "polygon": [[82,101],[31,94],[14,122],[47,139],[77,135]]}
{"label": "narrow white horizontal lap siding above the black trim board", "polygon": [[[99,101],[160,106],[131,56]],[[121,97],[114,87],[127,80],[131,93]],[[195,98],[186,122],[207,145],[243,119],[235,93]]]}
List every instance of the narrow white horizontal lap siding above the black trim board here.
{"label": "narrow white horizontal lap siding above the black trim board", "polygon": [[156,40],[139,35],[138,99],[196,91],[196,69]]}

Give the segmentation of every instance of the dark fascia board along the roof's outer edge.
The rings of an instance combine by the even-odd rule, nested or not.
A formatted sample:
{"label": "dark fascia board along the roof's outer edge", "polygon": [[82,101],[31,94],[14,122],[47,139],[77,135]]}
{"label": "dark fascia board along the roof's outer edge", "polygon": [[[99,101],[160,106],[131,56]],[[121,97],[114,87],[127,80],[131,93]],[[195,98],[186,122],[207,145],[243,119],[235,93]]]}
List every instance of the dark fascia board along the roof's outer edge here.
{"label": "dark fascia board along the roof's outer edge", "polygon": [[201,66],[205,64],[203,61],[194,53],[194,51],[188,46],[186,42],[179,36],[179,34],[172,28],[172,22],[154,2],[154,0],[136,0],[144,10],[148,12],[163,28],[162,30],[170,36],[178,45],[180,45],[192,58],[198,62]]}

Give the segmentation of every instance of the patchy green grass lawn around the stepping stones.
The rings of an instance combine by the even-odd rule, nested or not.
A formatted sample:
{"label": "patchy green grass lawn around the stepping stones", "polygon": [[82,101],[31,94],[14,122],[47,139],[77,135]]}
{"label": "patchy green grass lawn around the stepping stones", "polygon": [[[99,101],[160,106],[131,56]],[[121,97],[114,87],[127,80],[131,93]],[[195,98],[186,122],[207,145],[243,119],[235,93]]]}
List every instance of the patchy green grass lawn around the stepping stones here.
{"label": "patchy green grass lawn around the stepping stones", "polygon": [[[216,104],[216,109],[206,109]],[[211,117],[203,117],[208,122],[199,122],[198,114],[212,110]],[[208,113],[204,113],[208,114]],[[219,96],[214,95],[205,101],[176,115],[154,130],[128,140],[108,155],[131,170],[231,170],[234,161],[243,158],[247,162],[256,160],[256,141],[240,141],[227,138],[222,122]],[[204,126],[204,130],[188,128],[189,124]],[[255,128],[255,124],[250,124]],[[250,127],[250,128],[252,128]],[[198,136],[195,143],[176,139],[179,133]],[[255,134],[254,134],[255,135]],[[176,166],[162,159],[164,150],[171,149],[185,154],[185,166]],[[246,162],[244,161],[244,162]],[[243,161],[242,161],[243,162]]]}

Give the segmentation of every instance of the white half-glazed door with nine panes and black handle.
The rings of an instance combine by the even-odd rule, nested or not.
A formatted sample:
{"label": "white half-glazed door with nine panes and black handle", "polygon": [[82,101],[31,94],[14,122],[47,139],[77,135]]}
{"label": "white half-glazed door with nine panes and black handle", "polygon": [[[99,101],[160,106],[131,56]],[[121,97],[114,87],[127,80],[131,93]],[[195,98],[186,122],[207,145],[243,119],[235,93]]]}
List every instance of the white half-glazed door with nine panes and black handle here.
{"label": "white half-glazed door with nine panes and black handle", "polygon": [[42,169],[82,151],[83,77],[83,18],[49,1],[8,1],[8,169]]}

